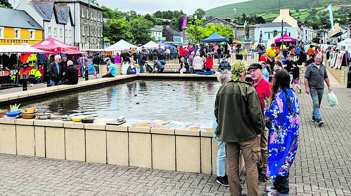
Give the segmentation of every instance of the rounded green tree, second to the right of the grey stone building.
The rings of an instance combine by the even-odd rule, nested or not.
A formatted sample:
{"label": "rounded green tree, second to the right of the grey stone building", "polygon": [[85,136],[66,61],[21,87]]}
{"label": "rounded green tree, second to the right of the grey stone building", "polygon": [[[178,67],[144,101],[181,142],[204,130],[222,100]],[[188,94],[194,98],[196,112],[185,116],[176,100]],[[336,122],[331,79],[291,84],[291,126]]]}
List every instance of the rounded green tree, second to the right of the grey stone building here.
{"label": "rounded green tree, second to the right of the grey stone building", "polygon": [[153,40],[151,35],[151,27],[153,23],[140,17],[130,20],[131,33],[134,35],[134,43],[145,44],[149,40]]}

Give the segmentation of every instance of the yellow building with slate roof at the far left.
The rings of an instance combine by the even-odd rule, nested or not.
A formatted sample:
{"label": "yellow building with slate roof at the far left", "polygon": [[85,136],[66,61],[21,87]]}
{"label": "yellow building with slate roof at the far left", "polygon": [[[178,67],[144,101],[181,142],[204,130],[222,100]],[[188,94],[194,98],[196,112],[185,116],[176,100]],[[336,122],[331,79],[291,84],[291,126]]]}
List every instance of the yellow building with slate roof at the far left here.
{"label": "yellow building with slate roof at the far left", "polygon": [[24,10],[0,7],[0,45],[36,44],[43,27]]}

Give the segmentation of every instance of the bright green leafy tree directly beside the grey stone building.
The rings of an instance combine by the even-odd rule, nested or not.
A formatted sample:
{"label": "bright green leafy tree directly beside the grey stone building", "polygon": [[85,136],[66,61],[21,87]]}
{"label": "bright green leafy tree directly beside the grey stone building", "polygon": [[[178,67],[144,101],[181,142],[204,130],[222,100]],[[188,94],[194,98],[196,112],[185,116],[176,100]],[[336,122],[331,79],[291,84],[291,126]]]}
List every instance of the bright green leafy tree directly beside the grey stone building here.
{"label": "bright green leafy tree directly beside the grey stone building", "polygon": [[133,41],[134,39],[129,22],[123,18],[110,19],[104,23],[104,37],[107,37],[113,42],[121,39],[125,41]]}

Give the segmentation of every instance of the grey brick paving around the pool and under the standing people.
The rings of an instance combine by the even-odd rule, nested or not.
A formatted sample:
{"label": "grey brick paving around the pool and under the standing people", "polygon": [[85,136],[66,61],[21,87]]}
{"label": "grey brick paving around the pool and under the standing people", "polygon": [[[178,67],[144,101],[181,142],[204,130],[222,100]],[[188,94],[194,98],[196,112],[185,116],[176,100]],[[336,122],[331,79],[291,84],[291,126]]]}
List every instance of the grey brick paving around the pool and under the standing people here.
{"label": "grey brick paving around the pool and under the standing people", "polygon": [[[329,107],[324,93],[322,127],[311,121],[310,96],[298,94],[302,124],[290,195],[351,195],[351,89],[335,85],[333,91],[339,105]],[[201,173],[0,154],[0,195],[229,195],[229,188],[215,179]],[[259,185],[261,195],[268,185]]]}

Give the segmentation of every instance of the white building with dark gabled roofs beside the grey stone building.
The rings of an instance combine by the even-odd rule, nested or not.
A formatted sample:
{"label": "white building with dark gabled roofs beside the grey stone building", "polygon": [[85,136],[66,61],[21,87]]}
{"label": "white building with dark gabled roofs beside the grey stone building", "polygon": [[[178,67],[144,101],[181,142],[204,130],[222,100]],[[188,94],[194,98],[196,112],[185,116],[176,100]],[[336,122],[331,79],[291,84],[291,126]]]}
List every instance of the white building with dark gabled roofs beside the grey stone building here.
{"label": "white building with dark gabled roofs beside the grey stone building", "polygon": [[53,37],[74,45],[74,21],[69,6],[54,1],[20,0],[16,9],[26,10],[44,28],[44,39]]}

